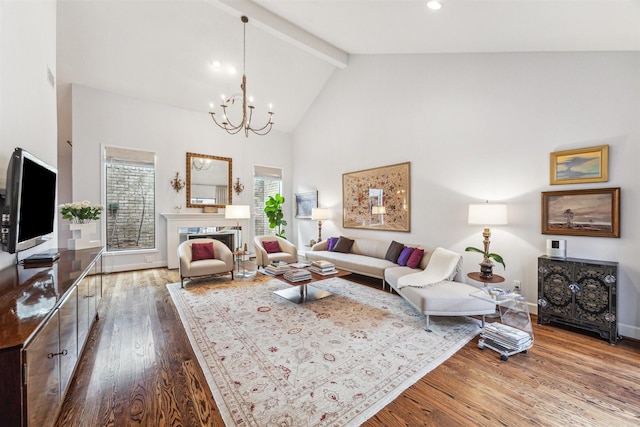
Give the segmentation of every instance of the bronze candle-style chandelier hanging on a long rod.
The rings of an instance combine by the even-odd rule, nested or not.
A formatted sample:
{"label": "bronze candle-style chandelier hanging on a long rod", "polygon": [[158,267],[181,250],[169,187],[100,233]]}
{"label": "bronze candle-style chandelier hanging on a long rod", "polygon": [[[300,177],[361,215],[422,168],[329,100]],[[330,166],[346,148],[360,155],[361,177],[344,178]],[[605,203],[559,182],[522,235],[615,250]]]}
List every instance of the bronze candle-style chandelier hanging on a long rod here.
{"label": "bronze candle-style chandelier hanging on a long rod", "polygon": [[[269,120],[262,127],[252,127],[251,119],[253,118],[253,110],[255,107],[251,104],[247,104],[247,76],[245,74],[246,68],[246,39],[247,39],[247,22],[249,22],[249,18],[246,16],[242,16],[240,20],[243,22],[243,34],[242,34],[242,83],[240,84],[240,89],[242,89],[242,93],[236,93],[231,95],[229,98],[225,98],[222,96],[222,117],[221,121],[216,119],[216,113],[213,111],[213,104],[211,104],[211,118],[222,129],[226,130],[231,135],[235,135],[236,133],[244,130],[244,135],[249,137],[249,132],[253,132],[256,135],[266,135],[271,131],[271,127],[273,126],[273,112],[271,111],[271,106],[269,106]],[[240,123],[234,124],[229,120],[229,116],[227,116],[227,108],[234,105],[236,102],[242,101],[242,121]],[[248,111],[247,111],[248,110]]]}

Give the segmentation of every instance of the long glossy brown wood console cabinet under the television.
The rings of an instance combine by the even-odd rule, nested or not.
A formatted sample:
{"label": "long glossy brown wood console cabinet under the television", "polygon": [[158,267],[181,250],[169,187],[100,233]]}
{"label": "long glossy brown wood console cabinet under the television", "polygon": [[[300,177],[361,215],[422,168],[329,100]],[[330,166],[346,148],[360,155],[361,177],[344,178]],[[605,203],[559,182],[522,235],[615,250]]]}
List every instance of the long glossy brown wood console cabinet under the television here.
{"label": "long glossy brown wood console cabinet under the television", "polygon": [[56,420],[102,295],[102,248],[0,271],[0,424]]}

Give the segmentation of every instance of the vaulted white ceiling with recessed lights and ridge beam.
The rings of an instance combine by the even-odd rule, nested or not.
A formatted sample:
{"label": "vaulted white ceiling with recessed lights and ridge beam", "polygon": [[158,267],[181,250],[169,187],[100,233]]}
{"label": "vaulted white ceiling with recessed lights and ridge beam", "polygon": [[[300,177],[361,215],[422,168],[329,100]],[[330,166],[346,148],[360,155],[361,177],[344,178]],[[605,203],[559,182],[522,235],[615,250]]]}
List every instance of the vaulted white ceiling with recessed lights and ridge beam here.
{"label": "vaulted white ceiling with recessed lights and ridge beam", "polygon": [[640,0],[441,2],[58,0],[58,90],[79,83],[206,114],[239,92],[241,15],[256,114],[273,103],[284,132],[349,55],[640,50]]}

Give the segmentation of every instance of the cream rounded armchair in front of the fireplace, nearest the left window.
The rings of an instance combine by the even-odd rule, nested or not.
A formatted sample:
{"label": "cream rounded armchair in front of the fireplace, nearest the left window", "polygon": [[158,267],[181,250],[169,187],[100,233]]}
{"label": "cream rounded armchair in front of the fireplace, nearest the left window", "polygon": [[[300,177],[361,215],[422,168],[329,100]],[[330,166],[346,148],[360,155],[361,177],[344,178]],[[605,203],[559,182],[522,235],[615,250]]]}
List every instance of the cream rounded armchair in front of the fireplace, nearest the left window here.
{"label": "cream rounded armchair in front of the fireplace, nearest the left window", "polygon": [[[194,243],[213,242],[213,259],[192,261],[191,246]],[[184,279],[196,276],[231,273],[233,280],[233,253],[224,243],[216,239],[190,239],[178,246],[180,259],[180,285],[184,287]]]}

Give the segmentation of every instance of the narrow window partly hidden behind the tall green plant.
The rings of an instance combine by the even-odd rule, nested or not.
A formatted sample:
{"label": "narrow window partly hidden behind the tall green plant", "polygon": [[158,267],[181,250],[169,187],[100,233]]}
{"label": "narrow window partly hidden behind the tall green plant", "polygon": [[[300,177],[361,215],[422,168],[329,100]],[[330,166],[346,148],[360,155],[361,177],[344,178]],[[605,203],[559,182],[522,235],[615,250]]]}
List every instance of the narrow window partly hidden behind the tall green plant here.
{"label": "narrow window partly hidden behind the tall green plant", "polygon": [[268,166],[253,168],[253,221],[256,236],[275,235],[276,230],[269,228],[269,219],[264,213],[265,202],[269,196],[282,194],[282,169]]}

